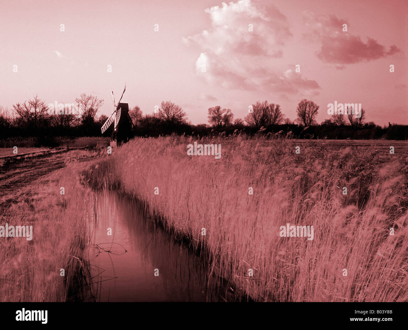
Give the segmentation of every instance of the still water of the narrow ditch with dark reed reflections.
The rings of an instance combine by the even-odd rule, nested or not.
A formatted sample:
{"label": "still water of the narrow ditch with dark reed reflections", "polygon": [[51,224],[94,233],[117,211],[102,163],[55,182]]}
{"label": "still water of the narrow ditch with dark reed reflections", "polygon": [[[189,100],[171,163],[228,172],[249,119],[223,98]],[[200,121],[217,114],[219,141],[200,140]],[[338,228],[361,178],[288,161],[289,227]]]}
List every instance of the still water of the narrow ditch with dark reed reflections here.
{"label": "still water of the narrow ditch with dark reed reflections", "polygon": [[101,193],[95,217],[90,261],[97,301],[219,300],[202,260],[154,226],[137,202]]}

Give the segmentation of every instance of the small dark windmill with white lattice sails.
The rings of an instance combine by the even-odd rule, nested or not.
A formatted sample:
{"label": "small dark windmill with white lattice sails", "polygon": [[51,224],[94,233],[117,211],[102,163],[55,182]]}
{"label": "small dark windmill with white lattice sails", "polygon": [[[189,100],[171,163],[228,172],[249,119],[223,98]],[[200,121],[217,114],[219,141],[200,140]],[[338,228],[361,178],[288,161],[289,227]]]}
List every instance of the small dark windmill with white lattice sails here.
{"label": "small dark windmill with white lattice sails", "polygon": [[102,134],[106,131],[113,122],[112,136],[111,136],[111,147],[120,146],[122,143],[129,141],[132,137],[132,127],[133,122],[129,115],[129,104],[120,103],[123,94],[126,91],[126,82],[123,89],[122,96],[118,104],[115,103],[115,97],[113,97],[113,91],[109,91],[109,98],[111,99],[113,105],[113,113],[109,116],[106,122],[103,124],[101,130]]}

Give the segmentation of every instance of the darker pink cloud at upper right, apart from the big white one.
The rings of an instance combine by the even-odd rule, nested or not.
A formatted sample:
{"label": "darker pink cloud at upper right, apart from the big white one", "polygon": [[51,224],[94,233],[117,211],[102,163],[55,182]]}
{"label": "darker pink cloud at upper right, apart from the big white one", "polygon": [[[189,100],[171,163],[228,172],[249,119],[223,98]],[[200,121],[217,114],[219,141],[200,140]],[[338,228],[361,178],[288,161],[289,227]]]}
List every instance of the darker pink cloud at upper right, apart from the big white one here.
{"label": "darker pink cloud at upper right, apart from the big white one", "polygon": [[336,64],[338,69],[344,69],[342,64],[377,60],[400,51],[395,45],[387,51],[385,46],[372,38],[367,37],[364,42],[359,36],[348,31],[343,32],[343,24],[347,24],[347,28],[350,25],[346,20],[339,20],[334,15],[316,16],[305,11],[303,17],[308,28],[305,36],[315,38],[322,44],[317,57],[325,63]]}

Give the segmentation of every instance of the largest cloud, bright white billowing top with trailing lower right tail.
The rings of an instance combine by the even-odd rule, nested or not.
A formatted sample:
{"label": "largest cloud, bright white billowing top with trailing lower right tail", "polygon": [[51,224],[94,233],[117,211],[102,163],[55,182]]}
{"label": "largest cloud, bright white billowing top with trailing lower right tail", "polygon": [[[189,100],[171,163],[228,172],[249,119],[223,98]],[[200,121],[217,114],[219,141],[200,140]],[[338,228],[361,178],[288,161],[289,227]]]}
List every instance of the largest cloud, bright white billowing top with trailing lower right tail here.
{"label": "largest cloud, bright white billowing top with trailing lower right tail", "polygon": [[182,41],[200,50],[195,70],[209,84],[284,93],[320,88],[314,80],[302,79],[300,73],[279,72],[273,66],[273,59],[283,56],[282,46],[292,33],[286,17],[272,4],[223,2],[222,7],[211,7],[205,13],[211,27]]}

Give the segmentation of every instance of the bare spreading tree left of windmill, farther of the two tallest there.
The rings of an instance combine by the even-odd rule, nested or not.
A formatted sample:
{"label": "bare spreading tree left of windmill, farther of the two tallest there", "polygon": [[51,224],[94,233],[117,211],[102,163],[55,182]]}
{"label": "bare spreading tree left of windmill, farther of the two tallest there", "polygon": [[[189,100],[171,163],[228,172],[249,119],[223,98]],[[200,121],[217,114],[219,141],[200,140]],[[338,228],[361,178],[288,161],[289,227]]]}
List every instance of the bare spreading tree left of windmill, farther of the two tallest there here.
{"label": "bare spreading tree left of windmill, farther of the two tallest there", "polygon": [[49,117],[48,104],[41,100],[38,95],[25,101],[24,104],[13,104],[14,111],[19,117],[20,123],[25,127],[37,129],[47,122]]}

